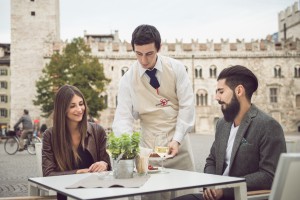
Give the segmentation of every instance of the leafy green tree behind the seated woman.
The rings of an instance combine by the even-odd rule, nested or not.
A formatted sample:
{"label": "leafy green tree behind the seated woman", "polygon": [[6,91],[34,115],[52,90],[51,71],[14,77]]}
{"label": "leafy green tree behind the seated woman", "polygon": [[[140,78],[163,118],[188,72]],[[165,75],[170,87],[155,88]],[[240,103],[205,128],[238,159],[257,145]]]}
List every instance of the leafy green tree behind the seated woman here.
{"label": "leafy green tree behind the seated woman", "polygon": [[83,93],[89,114],[97,117],[98,111],[106,108],[99,94],[105,91],[109,82],[104,75],[103,64],[91,56],[91,49],[82,38],[75,38],[61,54],[54,53],[42,70],[42,76],[36,82],[37,96],[33,103],[41,106],[43,117],[49,117],[57,89],[64,84],[74,85]]}

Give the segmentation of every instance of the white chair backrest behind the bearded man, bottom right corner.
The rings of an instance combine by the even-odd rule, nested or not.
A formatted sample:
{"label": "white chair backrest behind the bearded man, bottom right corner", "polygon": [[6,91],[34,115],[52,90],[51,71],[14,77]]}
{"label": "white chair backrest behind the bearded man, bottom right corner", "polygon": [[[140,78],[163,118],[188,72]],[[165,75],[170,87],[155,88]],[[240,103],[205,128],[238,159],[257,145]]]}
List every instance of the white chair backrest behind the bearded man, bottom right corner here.
{"label": "white chair backrest behind the bearded man, bottom right corner", "polygon": [[300,153],[282,153],[277,165],[269,200],[300,198]]}

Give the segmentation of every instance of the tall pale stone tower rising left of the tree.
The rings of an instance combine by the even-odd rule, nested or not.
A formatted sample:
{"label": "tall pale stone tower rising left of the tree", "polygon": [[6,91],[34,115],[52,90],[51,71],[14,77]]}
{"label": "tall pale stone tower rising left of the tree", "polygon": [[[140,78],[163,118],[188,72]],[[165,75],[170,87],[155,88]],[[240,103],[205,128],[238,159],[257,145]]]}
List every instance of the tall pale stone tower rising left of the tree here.
{"label": "tall pale stone tower rising left of the tree", "polygon": [[11,0],[11,126],[24,109],[39,118],[40,108],[33,105],[35,82],[48,49],[59,40],[59,0]]}

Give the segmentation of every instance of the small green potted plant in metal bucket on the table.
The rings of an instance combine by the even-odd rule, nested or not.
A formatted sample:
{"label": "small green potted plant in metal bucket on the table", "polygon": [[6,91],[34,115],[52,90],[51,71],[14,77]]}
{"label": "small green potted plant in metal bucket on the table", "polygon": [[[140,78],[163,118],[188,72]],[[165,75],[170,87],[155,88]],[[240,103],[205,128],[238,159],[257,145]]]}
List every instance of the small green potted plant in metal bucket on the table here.
{"label": "small green potted plant in metal bucket on the table", "polygon": [[139,143],[139,132],[133,132],[131,135],[123,133],[120,136],[109,133],[107,149],[113,159],[115,178],[133,177],[134,159],[140,151]]}

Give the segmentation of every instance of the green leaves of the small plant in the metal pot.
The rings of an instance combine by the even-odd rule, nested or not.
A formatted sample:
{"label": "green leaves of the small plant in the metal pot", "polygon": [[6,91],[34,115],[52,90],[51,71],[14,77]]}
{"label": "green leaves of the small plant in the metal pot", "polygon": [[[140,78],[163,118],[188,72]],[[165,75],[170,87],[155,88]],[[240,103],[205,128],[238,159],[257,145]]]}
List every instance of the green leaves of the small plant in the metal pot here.
{"label": "green leaves of the small plant in the metal pot", "polygon": [[123,153],[121,159],[133,159],[140,152],[140,133],[133,132],[131,135],[123,133],[119,137],[114,133],[109,133],[107,148],[113,159],[118,158]]}

